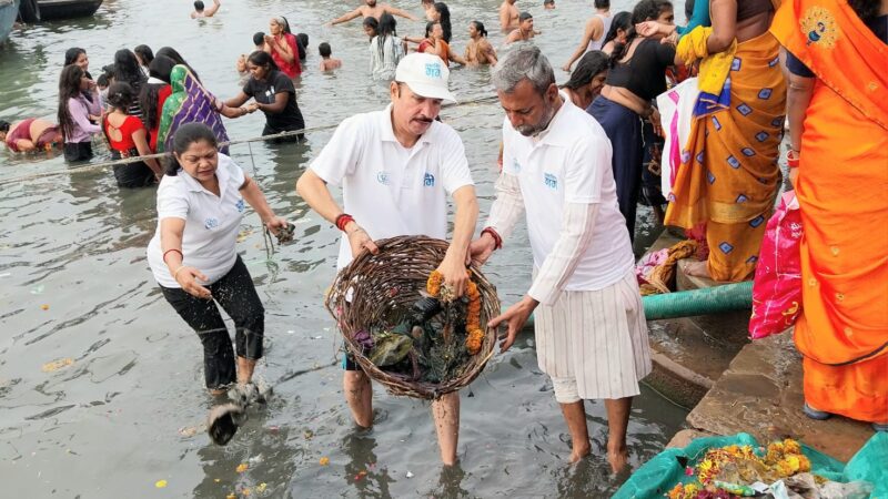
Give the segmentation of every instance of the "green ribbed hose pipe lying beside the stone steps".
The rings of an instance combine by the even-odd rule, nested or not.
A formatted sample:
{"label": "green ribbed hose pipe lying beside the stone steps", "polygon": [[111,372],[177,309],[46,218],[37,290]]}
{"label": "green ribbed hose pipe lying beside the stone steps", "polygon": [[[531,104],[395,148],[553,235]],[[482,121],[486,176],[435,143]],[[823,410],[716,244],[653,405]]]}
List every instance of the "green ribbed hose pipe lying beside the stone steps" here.
{"label": "green ribbed hose pipe lying beside the stone steps", "polygon": [[[753,308],[753,282],[725,284],[686,292],[643,296],[647,320],[722,314]],[[504,308],[505,309],[505,308]],[[525,327],[534,325],[532,315]]]}

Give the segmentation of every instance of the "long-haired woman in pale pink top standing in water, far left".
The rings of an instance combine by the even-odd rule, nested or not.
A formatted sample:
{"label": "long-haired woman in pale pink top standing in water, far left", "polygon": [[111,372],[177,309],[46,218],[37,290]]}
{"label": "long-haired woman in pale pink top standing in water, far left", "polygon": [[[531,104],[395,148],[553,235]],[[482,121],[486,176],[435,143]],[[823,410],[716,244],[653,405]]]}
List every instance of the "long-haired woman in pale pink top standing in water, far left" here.
{"label": "long-haired woman in pale pink top standing in water, far left", "polygon": [[[92,101],[83,96],[92,93]],[[78,64],[62,69],[59,78],[59,130],[64,140],[64,159],[69,162],[92,157],[92,135],[101,132],[95,124],[101,119],[95,83],[87,78],[87,73]]]}

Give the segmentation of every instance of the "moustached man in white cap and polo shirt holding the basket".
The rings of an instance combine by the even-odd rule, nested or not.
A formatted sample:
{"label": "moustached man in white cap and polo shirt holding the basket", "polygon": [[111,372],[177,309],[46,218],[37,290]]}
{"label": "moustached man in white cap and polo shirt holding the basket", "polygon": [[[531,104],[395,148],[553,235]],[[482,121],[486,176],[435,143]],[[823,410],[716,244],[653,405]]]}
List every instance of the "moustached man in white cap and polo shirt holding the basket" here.
{"label": "moustached man in white cap and polo shirt holding the basket", "polygon": [[[468,244],[478,207],[463,142],[451,126],[435,121],[450,71],[432,54],[413,53],[398,63],[391,83],[392,103],[383,111],[356,114],[340,123],[330,142],[296,183],[309,206],[344,232],[337,267],[361,252],[376,253],[374,240],[447,233],[447,195],[456,205],[453,240],[437,271],[462,296],[466,287]],[[342,185],[344,211],[327,184]],[[347,356],[343,388],[355,422],[373,425],[370,378]],[[456,462],[460,395],[432,403],[441,459]]]}

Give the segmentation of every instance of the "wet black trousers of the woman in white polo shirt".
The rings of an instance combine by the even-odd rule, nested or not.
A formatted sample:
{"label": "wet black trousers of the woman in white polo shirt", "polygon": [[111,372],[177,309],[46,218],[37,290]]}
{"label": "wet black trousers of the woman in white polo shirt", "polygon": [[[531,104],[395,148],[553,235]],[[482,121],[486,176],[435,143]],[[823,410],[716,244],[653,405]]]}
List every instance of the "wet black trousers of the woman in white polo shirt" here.
{"label": "wet black trousers of the woman in white polo shirt", "polygon": [[203,299],[181,288],[163,287],[163,297],[191,326],[203,344],[203,376],[206,388],[218,389],[236,380],[234,349],[216,303],[234,320],[234,345],[239,357],[262,357],[265,308],[259,299],[253,278],[240,255],[222,278],[208,286],[213,297]]}

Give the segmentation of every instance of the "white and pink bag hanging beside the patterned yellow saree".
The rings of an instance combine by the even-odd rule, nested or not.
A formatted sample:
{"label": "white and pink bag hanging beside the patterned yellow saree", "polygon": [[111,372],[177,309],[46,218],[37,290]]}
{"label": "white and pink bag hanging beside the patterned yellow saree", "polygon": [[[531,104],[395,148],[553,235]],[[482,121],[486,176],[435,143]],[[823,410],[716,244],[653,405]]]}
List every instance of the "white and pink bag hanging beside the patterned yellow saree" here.
{"label": "white and pink bag hanging beside the patterned yellow saree", "polygon": [[660,124],[666,133],[660,161],[660,189],[664,197],[669,200],[675,185],[675,175],[682,164],[683,147],[690,136],[694,106],[700,94],[696,78],[688,78],[682,83],[657,96]]}

